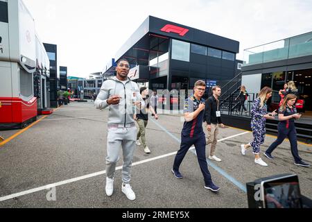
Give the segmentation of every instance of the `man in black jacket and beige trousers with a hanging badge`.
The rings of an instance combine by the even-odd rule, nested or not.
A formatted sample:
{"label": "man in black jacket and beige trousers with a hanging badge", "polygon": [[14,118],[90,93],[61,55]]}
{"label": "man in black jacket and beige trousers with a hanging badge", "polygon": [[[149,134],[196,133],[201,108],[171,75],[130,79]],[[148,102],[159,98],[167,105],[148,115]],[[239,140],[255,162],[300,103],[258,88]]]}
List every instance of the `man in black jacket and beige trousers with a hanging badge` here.
{"label": "man in black jacket and beige trousers with a hanging badge", "polygon": [[209,97],[206,101],[206,110],[205,110],[205,121],[207,123],[207,142],[206,144],[211,144],[209,160],[216,160],[221,162],[220,158],[216,157],[216,144],[218,142],[217,136],[219,133],[218,124],[222,128],[225,128],[221,121],[221,112],[220,112],[220,101],[218,100],[221,96],[221,88],[216,85],[212,88],[212,96]]}

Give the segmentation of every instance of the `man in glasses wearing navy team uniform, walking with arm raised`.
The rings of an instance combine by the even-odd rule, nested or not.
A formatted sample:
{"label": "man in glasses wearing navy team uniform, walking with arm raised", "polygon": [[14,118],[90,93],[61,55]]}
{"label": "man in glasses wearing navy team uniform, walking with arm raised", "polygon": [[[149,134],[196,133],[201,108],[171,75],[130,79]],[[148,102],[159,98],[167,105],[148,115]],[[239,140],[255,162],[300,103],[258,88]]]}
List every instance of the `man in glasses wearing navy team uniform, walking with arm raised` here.
{"label": "man in glasses wearing navy team uniform, walking with arm raised", "polygon": [[202,130],[202,121],[205,114],[205,100],[202,99],[205,93],[206,84],[202,80],[195,83],[194,95],[185,101],[184,105],[184,126],[181,135],[180,151],[177,151],[175,161],[173,163],[172,173],[177,179],[182,179],[183,176],[179,171],[182,160],[184,159],[189,148],[194,145],[196,148],[198,162],[205,180],[205,189],[211,191],[219,191],[220,188],[214,185],[211,180],[211,175],[208,170],[206,160],[205,133]]}

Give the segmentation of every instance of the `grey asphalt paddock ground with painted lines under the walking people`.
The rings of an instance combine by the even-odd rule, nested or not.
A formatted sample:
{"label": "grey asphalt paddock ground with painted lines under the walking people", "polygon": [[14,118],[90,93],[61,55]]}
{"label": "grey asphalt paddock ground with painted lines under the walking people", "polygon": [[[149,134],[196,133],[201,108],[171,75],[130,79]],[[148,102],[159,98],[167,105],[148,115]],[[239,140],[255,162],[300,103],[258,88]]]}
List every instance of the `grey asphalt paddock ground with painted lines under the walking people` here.
{"label": "grey asphalt paddock ground with painted lines under the walking people", "polygon": [[[43,119],[42,119],[43,118]],[[245,183],[279,173],[296,173],[304,196],[312,198],[311,168],[293,164],[290,144],[275,151],[275,160],[263,157],[269,167],[254,164],[251,151],[241,155],[240,145],[252,133],[236,128],[220,129],[216,155],[222,162],[209,162],[218,194],[204,189],[194,151],[189,151],[180,171],[183,180],[171,173],[175,152],[180,148],[183,126],[178,115],[150,118],[146,139],[151,154],[137,146],[131,185],[137,199],[121,192],[121,160],[117,166],[114,194],[105,195],[107,110],[94,109],[93,102],[70,103],[17,135],[20,130],[0,131],[0,207],[96,207],[96,208],[218,208],[248,207]],[[267,136],[265,151],[276,137]],[[312,163],[311,145],[298,144],[301,157]],[[209,147],[207,147],[207,157]],[[94,173],[94,174],[92,174]]]}

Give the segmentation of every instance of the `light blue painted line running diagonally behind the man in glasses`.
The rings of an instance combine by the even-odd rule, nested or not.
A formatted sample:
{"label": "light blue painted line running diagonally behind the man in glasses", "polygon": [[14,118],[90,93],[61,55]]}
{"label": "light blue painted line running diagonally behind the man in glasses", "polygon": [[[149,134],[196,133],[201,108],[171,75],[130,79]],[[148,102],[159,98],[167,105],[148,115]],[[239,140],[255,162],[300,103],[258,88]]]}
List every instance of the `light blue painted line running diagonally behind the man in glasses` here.
{"label": "light blue painted line running diagonally behind the man in glasses", "polygon": [[[165,133],[167,133],[169,136],[171,136],[173,139],[175,139],[175,141],[177,141],[178,143],[181,143],[181,139],[175,137],[175,135],[173,135],[172,133],[170,133],[166,128],[164,128],[162,125],[160,125],[159,123],[157,123],[157,121],[155,121],[154,119],[150,119],[151,121],[153,121],[153,123],[155,123],[159,128],[161,128],[162,130],[164,130]],[[192,153],[194,153],[196,155],[196,151],[191,150]],[[245,193],[247,193],[247,189],[245,187],[245,185],[243,185],[241,182],[239,182],[238,180],[236,180],[235,178],[233,178],[232,176],[230,176],[227,172],[223,171],[223,169],[220,169],[220,167],[217,167],[215,164],[211,163],[209,160],[207,160],[207,164],[209,165],[209,167],[212,167],[213,169],[215,169],[218,173],[220,173],[222,176],[224,176],[225,178],[227,178],[227,180],[229,180],[230,182],[232,182],[234,185],[236,185],[236,187],[239,187],[239,189],[241,189],[242,191],[244,191]]]}

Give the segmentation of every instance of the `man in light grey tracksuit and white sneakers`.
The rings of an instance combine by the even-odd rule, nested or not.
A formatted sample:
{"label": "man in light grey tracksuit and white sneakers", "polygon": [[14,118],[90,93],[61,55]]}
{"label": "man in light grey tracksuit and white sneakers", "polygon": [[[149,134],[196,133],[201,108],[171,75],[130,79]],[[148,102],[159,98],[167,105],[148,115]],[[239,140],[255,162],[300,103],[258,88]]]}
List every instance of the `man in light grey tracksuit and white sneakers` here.
{"label": "man in light grey tracksuit and white sneakers", "polygon": [[[107,157],[106,157],[106,187],[107,196],[114,191],[114,173],[119,160],[119,150],[123,149],[123,185],[122,191],[130,200],[135,200],[135,192],[130,186],[130,171],[133,153],[136,147],[137,128],[133,115],[137,107],[144,107],[137,83],[128,78],[130,65],[128,60],[119,60],[117,75],[106,80],[94,102],[97,109],[109,107],[107,121]],[[144,105],[143,105],[144,104]]]}

